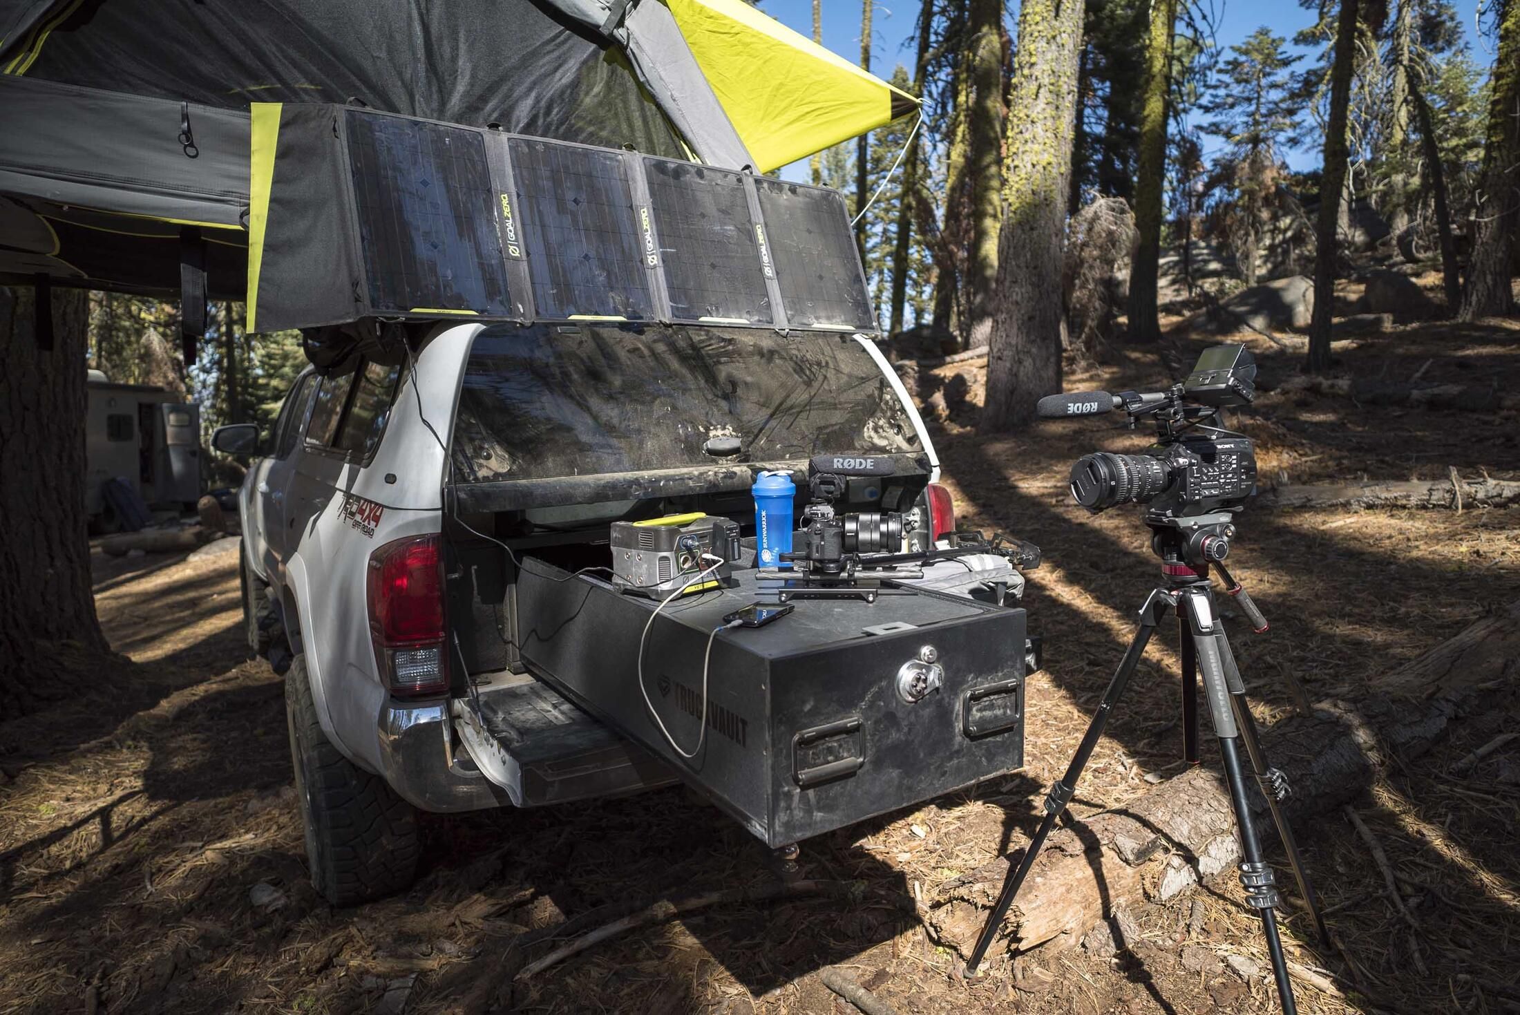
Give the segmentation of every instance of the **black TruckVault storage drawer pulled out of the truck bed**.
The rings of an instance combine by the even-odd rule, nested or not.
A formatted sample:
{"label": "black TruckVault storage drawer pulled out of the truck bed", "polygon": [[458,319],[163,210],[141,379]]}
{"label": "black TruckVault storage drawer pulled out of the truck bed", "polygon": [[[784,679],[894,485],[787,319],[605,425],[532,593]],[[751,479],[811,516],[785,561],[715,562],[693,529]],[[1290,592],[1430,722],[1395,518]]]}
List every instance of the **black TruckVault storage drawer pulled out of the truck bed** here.
{"label": "black TruckVault storage drawer pulled out of the truck bed", "polygon": [[[734,579],[736,588],[672,602],[649,629],[644,690],[686,751],[701,731],[708,635],[755,600],[755,571]],[[640,634],[657,600],[535,559],[518,582],[518,637],[532,672],[772,848],[1023,764],[1023,609],[888,590],[876,603],[800,600],[763,628],[724,631],[711,650],[707,734],[687,760],[638,688]],[[898,673],[926,646],[944,682],[904,700]]]}

